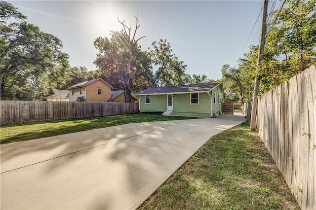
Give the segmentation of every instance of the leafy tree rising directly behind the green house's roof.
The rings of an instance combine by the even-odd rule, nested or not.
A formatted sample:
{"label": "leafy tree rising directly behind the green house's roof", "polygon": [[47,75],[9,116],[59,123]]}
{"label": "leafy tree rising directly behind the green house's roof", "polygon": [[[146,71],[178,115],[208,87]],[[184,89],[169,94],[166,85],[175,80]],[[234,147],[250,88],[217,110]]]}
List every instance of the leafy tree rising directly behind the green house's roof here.
{"label": "leafy tree rising directly behind the green house's roof", "polygon": [[158,66],[155,79],[159,86],[184,84],[187,65],[172,53],[170,43],[166,39],[154,41],[150,52],[155,66]]}

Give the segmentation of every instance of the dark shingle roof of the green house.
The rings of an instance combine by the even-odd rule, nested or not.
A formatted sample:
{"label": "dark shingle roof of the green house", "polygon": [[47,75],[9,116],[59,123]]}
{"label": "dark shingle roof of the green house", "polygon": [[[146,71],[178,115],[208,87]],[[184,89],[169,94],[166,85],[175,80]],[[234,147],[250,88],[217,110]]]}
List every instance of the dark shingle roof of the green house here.
{"label": "dark shingle roof of the green house", "polygon": [[180,85],[180,86],[167,86],[167,87],[156,87],[148,88],[146,90],[135,93],[134,95],[162,95],[166,93],[192,93],[192,92],[209,92],[222,82],[209,82],[202,84],[191,84],[191,85]]}

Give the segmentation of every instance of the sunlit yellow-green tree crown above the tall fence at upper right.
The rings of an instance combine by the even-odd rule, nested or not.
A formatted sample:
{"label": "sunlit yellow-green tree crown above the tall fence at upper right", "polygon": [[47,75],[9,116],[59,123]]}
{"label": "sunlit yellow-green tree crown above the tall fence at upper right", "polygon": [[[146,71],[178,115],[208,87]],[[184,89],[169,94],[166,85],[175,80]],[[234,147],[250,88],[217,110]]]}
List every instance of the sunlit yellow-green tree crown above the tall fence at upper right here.
{"label": "sunlit yellow-green tree crown above the tall fence at upper right", "polygon": [[287,0],[286,4],[269,25],[267,48],[290,78],[316,62],[316,0]]}

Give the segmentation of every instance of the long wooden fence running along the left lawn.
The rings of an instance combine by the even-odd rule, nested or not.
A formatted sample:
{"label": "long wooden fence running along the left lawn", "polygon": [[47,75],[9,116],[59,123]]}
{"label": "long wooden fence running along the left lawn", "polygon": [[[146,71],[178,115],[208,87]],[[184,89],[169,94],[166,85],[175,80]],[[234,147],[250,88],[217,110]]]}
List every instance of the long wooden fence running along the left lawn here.
{"label": "long wooden fence running along the left lawn", "polygon": [[1,124],[136,113],[138,103],[0,101]]}

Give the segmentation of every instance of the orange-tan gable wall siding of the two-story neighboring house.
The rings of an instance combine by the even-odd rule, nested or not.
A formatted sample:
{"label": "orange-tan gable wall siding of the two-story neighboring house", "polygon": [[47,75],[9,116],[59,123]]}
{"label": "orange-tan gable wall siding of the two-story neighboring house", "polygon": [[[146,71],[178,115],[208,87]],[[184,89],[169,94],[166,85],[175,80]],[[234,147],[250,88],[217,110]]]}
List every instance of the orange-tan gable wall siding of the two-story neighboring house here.
{"label": "orange-tan gable wall siding of the two-story neighboring house", "polygon": [[[98,88],[101,88],[101,94],[98,94]],[[111,99],[111,87],[102,80],[97,80],[85,86],[86,102],[107,102]]]}

